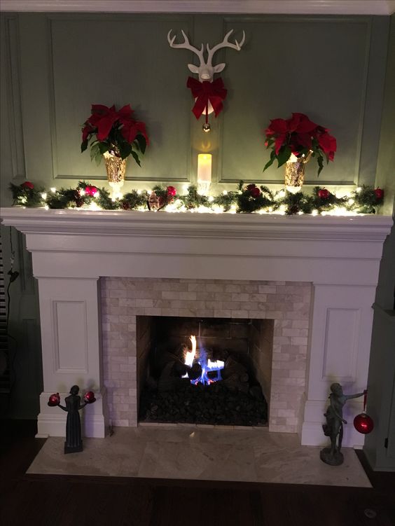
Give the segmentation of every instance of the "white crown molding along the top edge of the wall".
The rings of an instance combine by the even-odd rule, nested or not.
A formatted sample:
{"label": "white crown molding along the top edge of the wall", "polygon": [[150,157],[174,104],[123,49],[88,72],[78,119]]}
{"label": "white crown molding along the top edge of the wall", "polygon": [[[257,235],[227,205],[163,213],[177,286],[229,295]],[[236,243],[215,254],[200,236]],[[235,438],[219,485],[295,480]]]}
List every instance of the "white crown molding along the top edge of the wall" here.
{"label": "white crown molding along the top edge of the wall", "polygon": [[393,0],[2,0],[1,11],[390,15]]}

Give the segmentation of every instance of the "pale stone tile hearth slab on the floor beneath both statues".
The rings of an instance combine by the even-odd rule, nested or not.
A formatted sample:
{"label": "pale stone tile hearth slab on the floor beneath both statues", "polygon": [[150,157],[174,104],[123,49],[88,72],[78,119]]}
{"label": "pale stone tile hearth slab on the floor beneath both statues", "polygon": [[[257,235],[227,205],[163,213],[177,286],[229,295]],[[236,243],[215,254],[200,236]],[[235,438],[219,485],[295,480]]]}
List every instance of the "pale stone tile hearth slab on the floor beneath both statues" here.
{"label": "pale stone tile hearth slab on the floor beneath both statues", "polygon": [[117,427],[70,455],[63,441],[48,438],[27,473],[371,487],[354,450],[343,450],[342,466],[328,466],[320,448],[265,429]]}

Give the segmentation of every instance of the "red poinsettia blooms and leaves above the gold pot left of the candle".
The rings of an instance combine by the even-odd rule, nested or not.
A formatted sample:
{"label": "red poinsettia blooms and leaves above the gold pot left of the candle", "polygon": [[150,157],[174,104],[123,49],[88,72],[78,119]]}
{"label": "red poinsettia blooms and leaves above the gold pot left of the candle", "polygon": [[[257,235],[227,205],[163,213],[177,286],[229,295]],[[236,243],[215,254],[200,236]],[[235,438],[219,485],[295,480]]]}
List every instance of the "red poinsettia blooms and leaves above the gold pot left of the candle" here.
{"label": "red poinsettia blooms and leaves above the gold pot left of the candle", "polygon": [[146,151],[146,125],[133,117],[130,104],[116,111],[103,104],[92,104],[92,115],[83,124],[81,152],[90,144],[90,158],[102,160],[106,151],[125,159],[132,155],[139,166],[139,153]]}

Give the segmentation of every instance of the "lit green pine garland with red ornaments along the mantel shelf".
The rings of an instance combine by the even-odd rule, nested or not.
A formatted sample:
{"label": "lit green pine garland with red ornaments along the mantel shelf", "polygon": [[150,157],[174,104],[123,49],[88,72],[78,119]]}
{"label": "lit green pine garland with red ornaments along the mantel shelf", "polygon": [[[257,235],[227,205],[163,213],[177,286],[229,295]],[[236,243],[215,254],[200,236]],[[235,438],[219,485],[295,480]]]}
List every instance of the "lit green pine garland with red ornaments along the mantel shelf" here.
{"label": "lit green pine garland with red ornaments along the mantel shelf", "polygon": [[[13,205],[25,207],[48,207],[50,209],[88,208],[104,210],[149,210],[149,199],[152,195],[158,198],[159,207],[179,211],[200,209],[207,212],[237,212],[251,214],[253,212],[281,214],[323,214],[339,208],[342,212],[356,214],[375,214],[384,201],[384,191],[381,188],[362,186],[356,188],[351,195],[342,198],[326,188],[315,186],[312,194],[303,192],[290,193],[278,191],[273,193],[267,186],[256,186],[243,181],[237,186],[237,191],[224,191],[220,195],[208,197],[200,195],[195,186],[188,187],[185,195],[176,195],[174,186],[155,186],[151,196],[146,191],[132,190],[123,198],[113,200],[105,188],[79,181],[76,188],[60,188],[46,193],[43,188],[35,188],[29,181],[20,186],[10,184],[13,195]],[[154,209],[154,208],[152,208]]]}

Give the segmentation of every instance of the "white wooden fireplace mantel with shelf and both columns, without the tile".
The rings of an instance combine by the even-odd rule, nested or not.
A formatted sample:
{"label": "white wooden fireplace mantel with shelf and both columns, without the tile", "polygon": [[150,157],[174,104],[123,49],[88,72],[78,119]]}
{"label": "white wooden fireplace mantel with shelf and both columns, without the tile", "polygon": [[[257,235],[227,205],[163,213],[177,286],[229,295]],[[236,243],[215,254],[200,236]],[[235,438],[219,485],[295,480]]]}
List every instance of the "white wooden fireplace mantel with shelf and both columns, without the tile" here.
{"label": "white wooden fireplace mantel with shelf and both columns, without the tile", "polygon": [[[101,392],[85,410],[85,433],[104,436],[99,277],[310,282],[309,360],[302,443],[323,443],[328,386],[366,387],[382,245],[389,216],[280,216],[87,210],[0,210],[25,233],[39,281],[44,392],[39,435],[64,434],[48,408],[71,385]],[[340,322],[340,327],[339,327]],[[361,401],[349,403],[361,412]],[[346,415],[346,419],[352,415]],[[363,436],[347,427],[345,445]]]}

